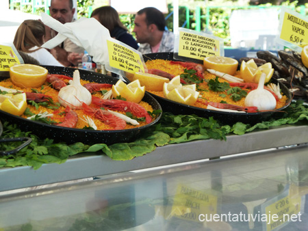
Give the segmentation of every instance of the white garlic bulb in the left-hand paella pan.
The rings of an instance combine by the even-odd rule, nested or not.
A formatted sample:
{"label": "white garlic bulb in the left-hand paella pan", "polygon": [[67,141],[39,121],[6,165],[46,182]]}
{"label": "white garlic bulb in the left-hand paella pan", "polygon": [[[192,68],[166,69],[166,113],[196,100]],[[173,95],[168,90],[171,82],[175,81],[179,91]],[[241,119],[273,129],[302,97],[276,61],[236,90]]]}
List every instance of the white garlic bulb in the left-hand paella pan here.
{"label": "white garlic bulb in the left-hand paella pan", "polygon": [[57,98],[62,106],[69,106],[72,109],[80,108],[83,102],[90,105],[92,95],[86,87],[81,85],[79,70],[74,71],[73,81],[70,81],[70,85],[61,88]]}

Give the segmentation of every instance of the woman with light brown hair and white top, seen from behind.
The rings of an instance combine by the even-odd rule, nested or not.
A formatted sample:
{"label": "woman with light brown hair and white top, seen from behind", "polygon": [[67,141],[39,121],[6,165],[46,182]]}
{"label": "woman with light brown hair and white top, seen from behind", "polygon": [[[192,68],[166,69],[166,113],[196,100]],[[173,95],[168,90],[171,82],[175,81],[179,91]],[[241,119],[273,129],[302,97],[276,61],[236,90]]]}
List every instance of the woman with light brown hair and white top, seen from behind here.
{"label": "woman with light brown hair and white top, seen from behind", "polygon": [[18,27],[13,43],[17,51],[34,57],[41,65],[63,66],[47,49],[40,48],[44,44],[44,36],[45,27],[41,21],[25,20]]}

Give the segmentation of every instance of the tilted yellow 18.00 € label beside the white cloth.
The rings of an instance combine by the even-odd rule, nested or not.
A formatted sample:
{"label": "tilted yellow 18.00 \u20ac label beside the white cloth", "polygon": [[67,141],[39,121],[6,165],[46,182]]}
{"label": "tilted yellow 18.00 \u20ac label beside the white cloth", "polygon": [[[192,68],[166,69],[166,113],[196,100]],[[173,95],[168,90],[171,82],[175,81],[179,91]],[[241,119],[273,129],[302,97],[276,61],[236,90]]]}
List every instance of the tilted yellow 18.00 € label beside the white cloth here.
{"label": "tilted yellow 18.00 \u20ac label beside the white cloth", "polygon": [[107,40],[109,62],[112,68],[135,73],[144,72],[140,55],[126,46]]}

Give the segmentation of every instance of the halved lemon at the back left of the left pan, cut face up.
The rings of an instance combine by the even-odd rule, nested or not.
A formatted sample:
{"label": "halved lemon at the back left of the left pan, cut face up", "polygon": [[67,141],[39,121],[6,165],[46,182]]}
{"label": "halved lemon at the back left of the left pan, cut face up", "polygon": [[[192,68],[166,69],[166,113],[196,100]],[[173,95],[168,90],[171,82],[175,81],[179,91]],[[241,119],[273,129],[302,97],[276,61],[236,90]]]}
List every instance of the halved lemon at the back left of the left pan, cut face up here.
{"label": "halved lemon at the back left of the left pan, cut face up", "polygon": [[10,67],[12,83],[18,87],[40,87],[47,79],[48,70],[32,64],[19,64]]}

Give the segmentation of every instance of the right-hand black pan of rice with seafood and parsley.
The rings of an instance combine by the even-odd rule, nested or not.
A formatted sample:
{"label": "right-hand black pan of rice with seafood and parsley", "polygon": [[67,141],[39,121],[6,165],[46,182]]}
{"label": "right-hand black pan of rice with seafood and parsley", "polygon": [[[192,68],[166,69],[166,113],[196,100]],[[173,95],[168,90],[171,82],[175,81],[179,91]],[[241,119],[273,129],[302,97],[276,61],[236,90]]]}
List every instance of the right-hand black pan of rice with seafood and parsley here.
{"label": "right-hand black pan of rice with seafood and parsley", "polygon": [[[185,105],[166,98],[163,91],[146,90],[159,102],[163,111],[170,111],[173,114],[196,114],[206,118],[213,117],[227,124],[234,122],[253,124],[268,118],[279,118],[283,115],[283,109],[291,103],[292,95],[287,87],[272,78],[270,84],[266,84],[266,89],[271,92],[277,102],[275,109],[260,111],[256,107],[247,107],[244,105],[246,94],[256,90],[258,84],[243,81],[240,76],[240,65],[235,74],[231,76],[218,70],[205,70],[204,66],[198,64],[198,62],[194,64],[179,62],[179,60],[174,59],[173,55],[173,53],[146,54],[144,55],[144,62],[146,62],[149,72],[166,77],[170,79],[170,82],[175,77],[181,76],[181,85],[195,84],[196,92],[199,92],[199,94],[196,103]],[[256,61],[258,60],[256,59]],[[260,64],[256,62],[256,64],[258,66],[266,65],[266,61]],[[192,72],[202,72],[202,74]],[[228,78],[224,79],[225,77]],[[209,87],[211,89],[216,88],[218,91],[215,92]],[[190,92],[193,95],[195,94],[194,87],[191,88]],[[222,91],[220,92],[220,90]],[[191,100],[187,100],[187,102],[191,102]]]}

